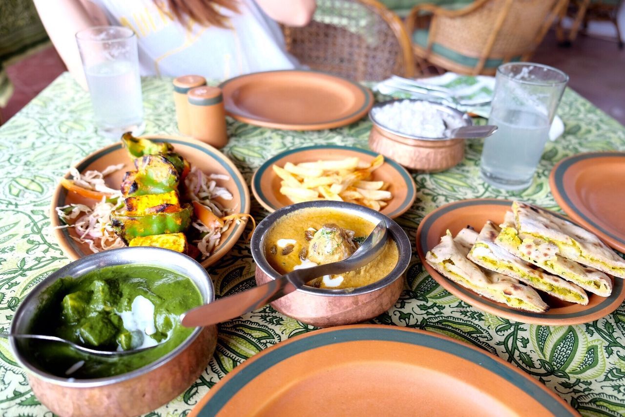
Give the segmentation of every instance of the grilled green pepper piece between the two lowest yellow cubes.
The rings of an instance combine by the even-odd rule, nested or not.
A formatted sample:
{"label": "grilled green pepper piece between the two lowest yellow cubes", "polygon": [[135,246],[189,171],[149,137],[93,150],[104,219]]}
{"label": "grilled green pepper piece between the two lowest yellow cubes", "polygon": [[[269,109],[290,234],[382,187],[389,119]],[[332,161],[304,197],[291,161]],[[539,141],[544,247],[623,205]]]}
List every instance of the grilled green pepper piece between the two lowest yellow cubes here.
{"label": "grilled green pepper piece between the two lowest yellow cubes", "polygon": [[187,230],[191,225],[191,205],[187,203],[182,207],[169,207],[169,210],[171,211],[146,215],[128,215],[124,211],[114,211],[111,213],[111,225],[127,245],[135,237]]}

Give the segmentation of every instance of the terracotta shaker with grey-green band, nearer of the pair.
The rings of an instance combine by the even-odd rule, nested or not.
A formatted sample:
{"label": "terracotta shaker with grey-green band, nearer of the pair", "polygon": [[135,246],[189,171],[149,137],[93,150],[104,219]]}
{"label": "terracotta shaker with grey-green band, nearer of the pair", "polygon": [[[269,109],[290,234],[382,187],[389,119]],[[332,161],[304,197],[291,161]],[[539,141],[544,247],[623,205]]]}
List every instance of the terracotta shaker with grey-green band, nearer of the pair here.
{"label": "terracotta shaker with grey-green band, nearer of the pair", "polygon": [[191,136],[216,148],[226,145],[226,110],[221,88],[192,88],[187,92],[187,100]]}

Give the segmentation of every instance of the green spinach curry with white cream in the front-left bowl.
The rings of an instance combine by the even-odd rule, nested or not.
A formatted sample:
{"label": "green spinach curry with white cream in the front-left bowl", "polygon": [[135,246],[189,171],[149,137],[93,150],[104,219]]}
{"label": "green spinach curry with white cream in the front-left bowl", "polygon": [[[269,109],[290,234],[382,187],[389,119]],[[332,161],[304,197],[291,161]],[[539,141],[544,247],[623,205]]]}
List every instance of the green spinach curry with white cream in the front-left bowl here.
{"label": "green spinach curry with white cream in the front-left bowl", "polygon": [[99,358],[64,344],[30,341],[34,363],[56,376],[102,378],[141,368],[173,350],[193,329],[179,316],[202,304],[191,279],[148,265],[93,270],[61,278],[46,289],[30,331],[63,337],[101,350],[154,346],[141,353]]}

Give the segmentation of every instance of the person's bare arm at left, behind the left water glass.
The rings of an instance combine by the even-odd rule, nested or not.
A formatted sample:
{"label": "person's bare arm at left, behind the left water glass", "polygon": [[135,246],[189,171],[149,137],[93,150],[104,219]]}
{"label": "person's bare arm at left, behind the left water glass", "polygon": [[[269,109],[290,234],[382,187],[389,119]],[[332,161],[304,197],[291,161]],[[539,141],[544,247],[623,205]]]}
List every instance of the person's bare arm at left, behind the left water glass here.
{"label": "person's bare arm at left, behind the left water glass", "polygon": [[39,18],[47,36],[63,59],[74,80],[87,88],[76,44],[76,32],[94,26],[94,22],[80,0],[34,0]]}

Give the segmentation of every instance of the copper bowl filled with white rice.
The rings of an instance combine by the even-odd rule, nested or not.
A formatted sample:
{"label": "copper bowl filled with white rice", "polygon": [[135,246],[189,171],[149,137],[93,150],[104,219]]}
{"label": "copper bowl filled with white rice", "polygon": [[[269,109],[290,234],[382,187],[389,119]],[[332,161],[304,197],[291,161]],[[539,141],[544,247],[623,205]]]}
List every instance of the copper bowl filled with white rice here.
{"label": "copper bowl filled with white rice", "polygon": [[[395,160],[406,168],[426,172],[443,171],[461,162],[462,158],[464,158],[464,139],[426,138],[408,135],[387,128],[379,123],[374,116],[374,109],[394,101],[377,103],[369,111],[369,118],[373,122],[371,133],[369,133],[369,148]],[[473,124],[471,117],[467,113],[462,113],[462,111],[455,108],[432,101],[426,101],[426,103],[429,103],[429,105],[436,108],[437,111],[444,113],[447,117],[453,118],[457,123],[454,127],[471,126]]]}

